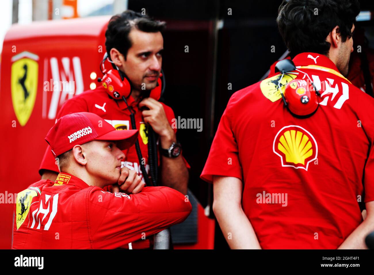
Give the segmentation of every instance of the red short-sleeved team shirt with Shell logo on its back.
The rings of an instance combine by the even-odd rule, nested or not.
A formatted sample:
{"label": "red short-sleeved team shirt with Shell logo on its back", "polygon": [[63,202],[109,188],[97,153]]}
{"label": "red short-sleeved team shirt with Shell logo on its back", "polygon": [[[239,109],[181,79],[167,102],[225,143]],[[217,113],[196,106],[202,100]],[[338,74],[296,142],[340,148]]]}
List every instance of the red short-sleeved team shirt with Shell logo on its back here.
{"label": "red short-sleeved team shirt with Shell logo on its back", "polygon": [[279,73],[237,91],[201,178],[244,183],[242,208],[262,248],[335,249],[362,222],[358,201],[374,200],[374,99],[324,55],[293,61],[303,73],[281,83],[309,76],[321,91],[317,112],[306,119],[289,113]]}

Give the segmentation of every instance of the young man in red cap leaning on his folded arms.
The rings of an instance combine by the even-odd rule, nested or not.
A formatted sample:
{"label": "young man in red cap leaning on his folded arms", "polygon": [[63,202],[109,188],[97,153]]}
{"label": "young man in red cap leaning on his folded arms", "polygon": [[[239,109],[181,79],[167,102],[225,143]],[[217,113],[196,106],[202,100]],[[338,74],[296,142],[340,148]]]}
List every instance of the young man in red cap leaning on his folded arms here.
{"label": "young man in red cap leaning on his folded arms", "polygon": [[[92,113],[58,119],[45,139],[60,173],[18,193],[13,248],[118,248],[184,221],[191,204],[183,194],[144,187],[135,171],[121,169],[122,150],[137,137]],[[130,195],[102,189],[111,184]]]}

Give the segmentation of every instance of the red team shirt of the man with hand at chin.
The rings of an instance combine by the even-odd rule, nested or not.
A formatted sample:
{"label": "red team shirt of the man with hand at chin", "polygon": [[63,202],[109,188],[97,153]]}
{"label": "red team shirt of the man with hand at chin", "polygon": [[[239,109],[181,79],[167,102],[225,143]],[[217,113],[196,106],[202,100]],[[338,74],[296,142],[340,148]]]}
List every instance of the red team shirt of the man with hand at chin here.
{"label": "red team shirt of the man with hand at chin", "polygon": [[[163,103],[161,104],[164,107],[165,114],[170,125],[172,125],[172,119],[175,118],[173,110],[169,106],[166,106]],[[136,128],[139,130],[138,141],[142,157],[145,159],[145,170],[148,172],[148,137],[145,134],[148,126],[143,122],[142,113],[138,109],[137,103],[132,101],[132,104],[130,106],[133,108],[133,111],[135,113]],[[132,129],[130,120],[131,113],[128,110],[126,103],[123,100],[114,100],[113,98],[111,98],[107,94],[103,86],[99,86],[92,91],[85,91],[82,94],[67,100],[59,110],[56,119],[59,119],[65,114],[83,111],[97,114],[117,130]],[[174,132],[177,132],[177,129],[174,128]],[[137,171],[138,175],[144,181],[135,146],[124,150],[123,153],[125,153],[126,158],[125,161],[122,161],[122,166]],[[186,161],[185,163],[187,168],[190,168]],[[45,169],[55,171],[56,173],[59,172],[55,158],[53,157],[49,146],[46,149],[45,155],[40,165],[39,173],[42,175],[43,170]],[[148,238],[132,244],[132,248],[134,249],[149,247],[151,247],[151,242]]]}

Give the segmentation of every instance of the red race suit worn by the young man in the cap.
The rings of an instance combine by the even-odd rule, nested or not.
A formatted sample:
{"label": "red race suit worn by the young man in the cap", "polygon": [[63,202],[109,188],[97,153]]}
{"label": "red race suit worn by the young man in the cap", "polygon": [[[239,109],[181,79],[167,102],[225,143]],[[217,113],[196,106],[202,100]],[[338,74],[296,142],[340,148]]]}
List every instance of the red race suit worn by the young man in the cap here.
{"label": "red race suit worn by the young man in the cap", "polygon": [[190,202],[169,187],[144,187],[136,195],[105,192],[60,173],[18,193],[15,249],[118,248],[184,221]]}

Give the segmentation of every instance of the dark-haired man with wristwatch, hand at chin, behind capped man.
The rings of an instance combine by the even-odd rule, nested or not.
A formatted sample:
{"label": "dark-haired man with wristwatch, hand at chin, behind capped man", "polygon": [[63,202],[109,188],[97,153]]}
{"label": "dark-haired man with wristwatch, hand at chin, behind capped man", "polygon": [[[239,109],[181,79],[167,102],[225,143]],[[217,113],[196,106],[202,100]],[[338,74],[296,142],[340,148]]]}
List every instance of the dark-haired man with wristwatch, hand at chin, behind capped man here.
{"label": "dark-haired man with wristwatch, hand at chin, behind capped man", "polygon": [[[109,61],[107,67],[112,64],[113,69],[104,71],[106,74],[102,77],[102,86],[99,85],[92,91],[85,91],[67,100],[57,118],[69,113],[86,111],[102,117],[117,130],[128,130],[134,129],[131,121],[133,114],[135,128],[139,130],[140,152],[137,152],[135,146],[123,151],[126,159],[122,161],[122,166],[127,167],[130,174],[136,172],[147,183],[144,171],[150,170],[148,133],[151,127],[159,137],[159,153],[156,159],[153,158],[156,165],[160,165],[158,185],[171,187],[186,195],[189,165],[184,160],[181,145],[176,140],[177,129],[171,127],[174,112],[169,106],[157,101],[160,98],[157,89],[161,90],[159,78],[164,28],[165,22],[154,21],[131,10],[112,16],[105,32],[107,58],[104,58],[103,62]],[[108,82],[107,76],[110,73],[116,73],[121,80],[127,81],[126,85],[129,84],[125,97],[122,96],[122,92],[119,93],[121,96],[117,94],[117,89],[119,91],[121,87]],[[109,80],[113,79],[109,77]],[[64,156],[53,158],[50,148],[47,148],[39,169],[42,179],[54,181],[58,175],[56,162],[64,161],[63,158]],[[128,188],[130,187],[125,184],[120,187],[113,186],[113,192],[131,194],[135,189]],[[148,248],[150,242],[146,239],[133,244],[132,247]]]}

